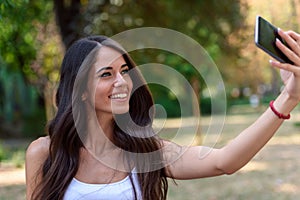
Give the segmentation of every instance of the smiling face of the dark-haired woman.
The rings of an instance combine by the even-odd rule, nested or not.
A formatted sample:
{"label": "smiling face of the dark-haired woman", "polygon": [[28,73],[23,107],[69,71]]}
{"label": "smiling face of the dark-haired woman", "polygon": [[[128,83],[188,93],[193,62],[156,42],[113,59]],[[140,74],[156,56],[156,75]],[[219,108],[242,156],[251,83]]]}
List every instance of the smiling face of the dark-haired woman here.
{"label": "smiling face of the dark-haired woman", "polygon": [[97,116],[123,114],[129,111],[132,80],[123,56],[109,47],[101,47],[92,70],[94,105]]}

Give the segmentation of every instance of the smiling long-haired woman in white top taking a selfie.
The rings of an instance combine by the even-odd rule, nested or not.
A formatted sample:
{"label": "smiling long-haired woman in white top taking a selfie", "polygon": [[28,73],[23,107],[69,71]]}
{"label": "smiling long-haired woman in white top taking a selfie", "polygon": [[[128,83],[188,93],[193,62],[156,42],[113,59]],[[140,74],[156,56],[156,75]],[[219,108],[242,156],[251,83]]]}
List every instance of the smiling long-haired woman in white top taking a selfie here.
{"label": "smiling long-haired woman in white top taking a selfie", "polygon": [[[151,94],[114,41],[87,37],[66,52],[49,136],[26,153],[27,199],[166,199],[167,178],[232,174],[268,142],[300,100],[300,35],[280,31],[295,64],[271,61],[285,89],[262,115],[221,149],[180,147],[155,136]],[[209,151],[199,159],[199,153]],[[174,159],[176,158],[176,159]]]}

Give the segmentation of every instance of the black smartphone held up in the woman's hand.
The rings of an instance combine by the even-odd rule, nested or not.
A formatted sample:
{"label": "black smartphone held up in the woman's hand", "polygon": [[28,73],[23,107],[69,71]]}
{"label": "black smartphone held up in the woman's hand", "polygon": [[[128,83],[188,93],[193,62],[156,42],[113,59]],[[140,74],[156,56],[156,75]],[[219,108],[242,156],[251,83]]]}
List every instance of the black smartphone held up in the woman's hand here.
{"label": "black smartphone held up in the woman's hand", "polygon": [[270,22],[262,18],[261,16],[256,17],[255,24],[255,44],[260,49],[264,50],[270,56],[283,63],[290,63],[286,55],[284,55],[280,49],[276,46],[276,38],[278,38],[284,45],[288,47],[286,42],[279,36],[278,28],[272,25]]}

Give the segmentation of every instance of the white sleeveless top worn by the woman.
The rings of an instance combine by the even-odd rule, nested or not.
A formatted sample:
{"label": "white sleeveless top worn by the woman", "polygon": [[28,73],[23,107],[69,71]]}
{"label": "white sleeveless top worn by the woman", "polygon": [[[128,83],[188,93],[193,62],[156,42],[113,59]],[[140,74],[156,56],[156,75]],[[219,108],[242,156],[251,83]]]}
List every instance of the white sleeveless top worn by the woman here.
{"label": "white sleeveless top worn by the woman", "polygon": [[[132,180],[141,200],[141,190],[136,173],[132,173]],[[121,181],[108,184],[83,183],[73,178],[64,195],[64,200],[134,200],[134,190],[129,176]]]}

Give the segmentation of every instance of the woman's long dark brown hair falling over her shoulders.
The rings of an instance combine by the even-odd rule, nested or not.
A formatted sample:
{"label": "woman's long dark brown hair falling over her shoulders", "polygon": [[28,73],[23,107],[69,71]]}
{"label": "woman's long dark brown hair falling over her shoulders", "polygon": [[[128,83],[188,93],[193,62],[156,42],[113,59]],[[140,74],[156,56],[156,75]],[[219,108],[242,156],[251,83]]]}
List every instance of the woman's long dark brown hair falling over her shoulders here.
{"label": "woman's long dark brown hair falling over her shoulders", "polygon": [[[48,125],[48,134],[50,136],[49,155],[45,160],[42,169],[42,180],[32,195],[34,200],[61,200],[75,176],[79,166],[80,148],[84,148],[83,142],[78,135],[78,129],[75,126],[72,99],[80,98],[86,85],[77,85],[78,95],[74,96],[73,88],[77,75],[83,73],[82,77],[87,77],[91,69],[91,64],[86,64],[81,69],[86,57],[96,57],[95,53],[101,46],[108,46],[122,53],[124,60],[130,69],[136,67],[130,56],[122,50],[114,41],[105,36],[92,36],[76,41],[66,52],[62,62],[60,72],[60,83],[56,94],[57,113]],[[92,61],[93,63],[94,61]],[[129,102],[129,116],[132,123],[126,123],[125,129],[122,125],[114,125],[114,143],[128,152],[126,156],[138,171],[139,188],[141,188],[142,198],[144,200],[166,199],[168,182],[165,174],[165,168],[162,165],[161,144],[158,138],[154,136],[152,130],[152,117],[149,114],[153,106],[151,93],[138,70],[133,70],[130,74],[133,80],[134,92]],[[78,77],[77,77],[78,78]],[[83,83],[86,83],[83,81]],[[79,87],[80,86],[80,87]],[[81,108],[83,109],[83,108]],[[82,110],[84,112],[84,110]],[[153,114],[153,113],[152,113]],[[126,118],[125,115],[116,116],[116,118]],[[84,121],[84,120],[81,120]],[[122,120],[119,120],[122,122]],[[123,120],[124,121],[124,120]],[[135,130],[134,125],[143,127]],[[84,126],[84,125],[83,125]],[[134,132],[128,134],[127,131]],[[141,133],[143,132],[143,133]],[[139,137],[139,134],[146,134],[145,137]],[[150,135],[149,135],[150,134]],[[156,152],[154,155],[152,152]],[[139,153],[150,156],[143,156],[143,159],[137,158]],[[151,164],[159,163],[155,168]],[[154,170],[152,170],[152,169]],[[134,186],[132,177],[131,183],[134,188],[135,198],[137,198],[136,186]]]}

